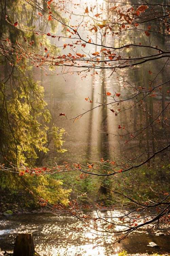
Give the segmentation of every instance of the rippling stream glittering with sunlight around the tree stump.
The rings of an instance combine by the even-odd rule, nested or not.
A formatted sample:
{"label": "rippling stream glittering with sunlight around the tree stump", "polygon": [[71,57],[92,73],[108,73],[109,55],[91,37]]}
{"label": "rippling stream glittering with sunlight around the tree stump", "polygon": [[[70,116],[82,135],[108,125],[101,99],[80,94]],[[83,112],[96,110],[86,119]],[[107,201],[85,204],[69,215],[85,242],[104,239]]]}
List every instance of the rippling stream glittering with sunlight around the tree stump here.
{"label": "rippling stream glittering with sunlight around the tree stump", "polygon": [[[170,235],[152,234],[136,234],[120,244],[93,248],[95,234],[69,232],[70,227],[79,225],[76,219],[62,214],[31,213],[13,215],[9,218],[1,217],[0,248],[12,251],[18,232],[32,232],[36,251],[42,256],[113,256],[123,250],[130,254],[170,252]],[[159,246],[149,247],[149,242]]]}

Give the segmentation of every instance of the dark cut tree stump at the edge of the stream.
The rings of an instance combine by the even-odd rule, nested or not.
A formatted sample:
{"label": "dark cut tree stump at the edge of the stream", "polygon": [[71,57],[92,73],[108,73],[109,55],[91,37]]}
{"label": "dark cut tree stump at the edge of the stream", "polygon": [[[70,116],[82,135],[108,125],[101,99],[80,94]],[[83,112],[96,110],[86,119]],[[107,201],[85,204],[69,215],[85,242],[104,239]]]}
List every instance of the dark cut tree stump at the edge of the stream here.
{"label": "dark cut tree stump at the edge of the stream", "polygon": [[13,256],[34,256],[32,233],[19,233],[15,240]]}

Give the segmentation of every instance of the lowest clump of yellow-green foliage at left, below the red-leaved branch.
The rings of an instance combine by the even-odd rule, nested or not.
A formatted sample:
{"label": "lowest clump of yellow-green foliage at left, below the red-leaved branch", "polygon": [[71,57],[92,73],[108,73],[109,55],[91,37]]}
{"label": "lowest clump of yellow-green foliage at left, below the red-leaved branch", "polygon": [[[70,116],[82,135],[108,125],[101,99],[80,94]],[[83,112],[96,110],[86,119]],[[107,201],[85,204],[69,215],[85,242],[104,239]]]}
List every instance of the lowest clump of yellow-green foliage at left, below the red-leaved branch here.
{"label": "lowest clump of yellow-green foliage at left, below the red-leaved branch", "polygon": [[[21,208],[39,207],[37,196],[48,200],[50,204],[61,203],[67,205],[71,189],[64,189],[62,180],[50,175],[24,175],[1,173],[0,175],[1,194],[6,206]],[[27,188],[27,189],[26,189]],[[31,191],[31,193],[28,193]],[[8,196],[6,197],[5,194]],[[9,197],[10,194],[10,197]],[[12,199],[12,202],[10,201]]]}

